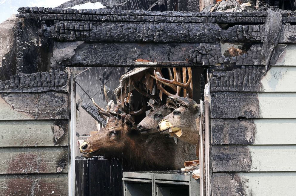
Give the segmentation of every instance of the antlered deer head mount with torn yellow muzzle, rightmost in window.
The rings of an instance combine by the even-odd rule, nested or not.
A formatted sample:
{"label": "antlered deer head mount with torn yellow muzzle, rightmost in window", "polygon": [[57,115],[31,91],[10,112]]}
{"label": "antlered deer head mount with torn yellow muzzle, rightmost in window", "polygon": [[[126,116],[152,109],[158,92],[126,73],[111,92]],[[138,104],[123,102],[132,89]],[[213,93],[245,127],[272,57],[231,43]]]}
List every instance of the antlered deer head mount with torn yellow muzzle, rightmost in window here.
{"label": "antlered deer head mount with torn yellow muzzle, rightmost in window", "polygon": [[[162,82],[174,84],[184,89],[185,94],[188,93],[188,98],[180,97],[178,94],[172,95],[165,89],[160,87],[160,90],[168,95],[168,102],[175,102],[178,105],[177,108],[158,124],[158,131],[161,134],[171,134],[174,137],[178,137],[180,140],[186,141],[191,144],[198,143],[198,134],[200,130],[199,120],[200,120],[200,105],[193,101],[192,98],[192,71],[191,68],[188,70],[188,81],[186,81],[186,70],[183,68],[183,83],[177,80],[178,73],[176,68],[173,68],[174,79],[168,80],[161,77],[160,70],[155,71],[154,75],[157,80]],[[185,73],[184,73],[185,72]],[[186,91],[185,91],[186,90]]]}

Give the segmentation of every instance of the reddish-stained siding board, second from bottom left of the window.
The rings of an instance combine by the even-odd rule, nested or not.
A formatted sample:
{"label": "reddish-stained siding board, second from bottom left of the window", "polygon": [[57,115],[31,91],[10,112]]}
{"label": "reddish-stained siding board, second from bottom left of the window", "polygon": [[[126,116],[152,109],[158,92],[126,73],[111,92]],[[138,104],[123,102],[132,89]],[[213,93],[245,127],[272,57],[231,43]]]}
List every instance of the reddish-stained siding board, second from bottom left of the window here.
{"label": "reddish-stained siding board, second from bottom left of the window", "polygon": [[0,174],[68,172],[68,147],[2,148]]}

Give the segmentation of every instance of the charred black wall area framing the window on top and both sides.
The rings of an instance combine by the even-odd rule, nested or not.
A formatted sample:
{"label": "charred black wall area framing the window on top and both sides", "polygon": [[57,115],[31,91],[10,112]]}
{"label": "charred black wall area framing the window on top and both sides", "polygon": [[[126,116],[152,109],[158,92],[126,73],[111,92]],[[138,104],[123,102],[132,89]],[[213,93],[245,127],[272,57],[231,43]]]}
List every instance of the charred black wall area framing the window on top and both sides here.
{"label": "charred black wall area framing the window on top and both sides", "polygon": [[[252,157],[247,145],[251,145],[254,140],[253,119],[260,117],[256,92],[260,90],[260,80],[266,74],[266,57],[262,50],[266,51],[263,43],[270,36],[266,30],[270,25],[266,19],[268,12],[187,13],[37,7],[20,8],[19,12],[17,16],[21,21],[18,22],[16,33],[17,75],[11,76],[10,80],[0,81],[2,104],[7,111],[12,111],[12,115],[20,118],[21,123],[33,120],[38,124],[44,120],[53,128],[53,144],[41,147],[37,142],[36,148],[19,146],[24,154],[31,148],[42,150],[44,154],[53,149],[59,153],[55,154],[57,163],[46,163],[44,160],[44,164],[53,164],[49,166],[51,169],[36,166],[38,172],[31,171],[24,163],[24,168],[17,169],[27,173],[13,173],[17,177],[15,179],[6,175],[12,174],[12,169],[1,174],[1,186],[8,187],[4,195],[19,189],[11,186],[15,184],[13,180],[21,179],[24,184],[28,184],[27,187],[33,187],[35,178],[44,187],[52,187],[48,189],[50,192],[60,191],[61,195],[67,195],[66,189],[51,185],[60,177],[64,179],[63,183],[67,179],[68,160],[65,157],[68,144],[61,130],[67,129],[63,123],[69,118],[68,108],[64,106],[68,105],[69,99],[68,76],[65,72],[65,67],[69,66],[207,68],[212,108],[212,187],[206,192],[211,195],[229,195],[227,191],[231,190],[230,195],[247,195],[241,184],[242,179],[235,175],[237,172],[250,172],[251,169]],[[293,13],[281,13],[281,21],[279,43],[295,42],[296,17]],[[33,24],[33,28],[24,28],[28,24]],[[30,34],[28,32],[32,31],[31,36],[38,38],[38,42],[28,44],[25,41]],[[233,47],[224,50],[227,44]],[[272,51],[270,63],[274,64],[284,49],[268,49]],[[82,56],[85,53],[87,55]],[[27,57],[31,55],[40,58],[30,61]],[[30,105],[29,111],[24,111],[22,102],[16,104],[21,97],[27,99],[25,104]],[[51,107],[45,107],[39,111],[42,104],[53,104],[51,107],[55,110],[48,112],[46,110]],[[4,119],[8,124],[10,120],[12,118]],[[1,120],[1,123],[4,121]],[[221,130],[225,133],[221,134]],[[59,143],[63,146],[58,146]],[[36,157],[39,160],[37,154]],[[43,160],[42,157],[40,160]],[[236,181],[223,183],[224,176]],[[47,193],[45,189],[42,191],[40,194]]]}

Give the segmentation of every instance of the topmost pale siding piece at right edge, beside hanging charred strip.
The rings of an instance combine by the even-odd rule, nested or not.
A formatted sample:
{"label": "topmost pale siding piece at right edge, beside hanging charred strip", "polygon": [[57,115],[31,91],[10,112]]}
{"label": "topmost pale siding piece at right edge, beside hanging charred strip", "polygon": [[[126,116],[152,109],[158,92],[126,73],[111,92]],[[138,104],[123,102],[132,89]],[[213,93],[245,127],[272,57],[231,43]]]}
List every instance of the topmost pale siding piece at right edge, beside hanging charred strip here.
{"label": "topmost pale siding piece at right edge, beside hanging charred strip", "polygon": [[272,66],[296,66],[296,44],[287,44],[284,52],[280,54],[275,65]]}

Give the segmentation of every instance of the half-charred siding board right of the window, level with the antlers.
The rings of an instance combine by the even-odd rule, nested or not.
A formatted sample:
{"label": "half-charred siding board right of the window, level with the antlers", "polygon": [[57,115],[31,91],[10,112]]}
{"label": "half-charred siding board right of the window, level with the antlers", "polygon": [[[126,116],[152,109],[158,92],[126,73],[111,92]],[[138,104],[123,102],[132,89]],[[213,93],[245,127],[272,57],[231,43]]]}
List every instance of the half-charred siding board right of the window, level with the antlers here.
{"label": "half-charred siding board right of the window, level with the antlers", "polygon": [[242,66],[210,74],[211,91],[296,92],[296,66]]}

